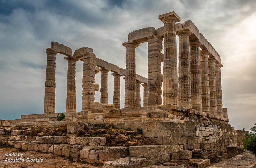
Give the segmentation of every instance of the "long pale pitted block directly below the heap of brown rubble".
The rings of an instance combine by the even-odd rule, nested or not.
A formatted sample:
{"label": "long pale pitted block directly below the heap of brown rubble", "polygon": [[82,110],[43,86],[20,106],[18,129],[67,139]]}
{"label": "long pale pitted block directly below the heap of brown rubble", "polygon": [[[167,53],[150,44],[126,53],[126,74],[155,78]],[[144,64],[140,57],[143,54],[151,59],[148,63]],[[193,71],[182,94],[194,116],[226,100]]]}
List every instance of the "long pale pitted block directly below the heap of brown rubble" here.
{"label": "long pale pitted block directly below the heap of brown rubble", "polygon": [[88,145],[88,146],[104,146],[106,145],[105,137],[72,137],[71,145]]}

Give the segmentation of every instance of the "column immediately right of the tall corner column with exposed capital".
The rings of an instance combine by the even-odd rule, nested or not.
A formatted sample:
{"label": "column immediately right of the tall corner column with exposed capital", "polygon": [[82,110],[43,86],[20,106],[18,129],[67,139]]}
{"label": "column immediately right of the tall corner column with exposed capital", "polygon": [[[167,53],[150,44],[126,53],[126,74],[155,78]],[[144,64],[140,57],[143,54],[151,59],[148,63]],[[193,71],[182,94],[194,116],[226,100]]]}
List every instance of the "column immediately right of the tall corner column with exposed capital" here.
{"label": "column immediately right of the tall corner column with exposed capital", "polygon": [[177,31],[179,36],[179,94],[178,104],[191,108],[191,79],[190,79],[190,54],[188,28]]}

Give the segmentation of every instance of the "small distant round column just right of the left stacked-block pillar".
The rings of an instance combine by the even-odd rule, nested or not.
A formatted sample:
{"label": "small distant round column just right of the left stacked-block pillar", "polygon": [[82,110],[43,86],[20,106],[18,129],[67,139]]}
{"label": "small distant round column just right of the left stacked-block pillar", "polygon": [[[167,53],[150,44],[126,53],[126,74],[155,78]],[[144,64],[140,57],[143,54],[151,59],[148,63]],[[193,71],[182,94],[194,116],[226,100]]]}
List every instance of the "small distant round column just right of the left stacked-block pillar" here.
{"label": "small distant round column just right of the left stacked-block pillar", "polygon": [[100,69],[101,72],[101,84],[100,84],[100,102],[102,104],[108,103],[108,70]]}

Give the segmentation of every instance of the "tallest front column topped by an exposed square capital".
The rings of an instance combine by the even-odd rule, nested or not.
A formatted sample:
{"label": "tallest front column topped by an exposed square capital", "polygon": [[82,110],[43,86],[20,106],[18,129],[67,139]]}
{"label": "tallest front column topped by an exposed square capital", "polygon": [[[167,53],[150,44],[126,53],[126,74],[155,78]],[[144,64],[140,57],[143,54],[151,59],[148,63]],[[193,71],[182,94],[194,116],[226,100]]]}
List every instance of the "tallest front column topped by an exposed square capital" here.
{"label": "tallest front column topped by an exposed square capital", "polygon": [[178,104],[176,22],[180,21],[175,12],[159,15],[164,23],[164,77],[163,104]]}

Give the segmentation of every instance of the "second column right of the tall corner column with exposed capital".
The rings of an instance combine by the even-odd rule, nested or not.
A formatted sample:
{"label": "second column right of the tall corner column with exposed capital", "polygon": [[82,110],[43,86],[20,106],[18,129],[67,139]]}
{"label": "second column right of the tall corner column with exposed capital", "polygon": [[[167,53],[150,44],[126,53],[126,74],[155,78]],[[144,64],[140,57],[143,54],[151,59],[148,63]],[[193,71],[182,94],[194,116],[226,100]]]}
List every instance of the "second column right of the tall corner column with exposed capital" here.
{"label": "second column right of the tall corner column with exposed capital", "polygon": [[202,111],[201,92],[201,68],[200,68],[200,45],[199,40],[189,43],[190,45],[190,74],[191,74],[191,103],[192,108]]}

